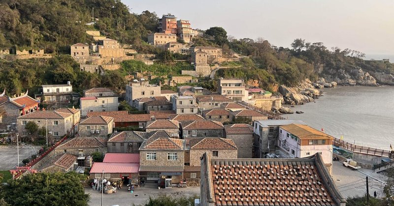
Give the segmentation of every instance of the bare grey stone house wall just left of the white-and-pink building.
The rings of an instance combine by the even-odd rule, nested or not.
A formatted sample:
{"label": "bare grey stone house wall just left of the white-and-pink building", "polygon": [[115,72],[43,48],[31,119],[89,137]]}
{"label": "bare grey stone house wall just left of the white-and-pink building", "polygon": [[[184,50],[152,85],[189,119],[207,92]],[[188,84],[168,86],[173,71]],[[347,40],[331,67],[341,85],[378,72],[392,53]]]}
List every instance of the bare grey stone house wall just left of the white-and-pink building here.
{"label": "bare grey stone house wall just left of the white-and-pink building", "polygon": [[226,139],[232,140],[238,147],[238,158],[252,158],[253,157],[253,135],[252,134],[237,134],[226,135]]}

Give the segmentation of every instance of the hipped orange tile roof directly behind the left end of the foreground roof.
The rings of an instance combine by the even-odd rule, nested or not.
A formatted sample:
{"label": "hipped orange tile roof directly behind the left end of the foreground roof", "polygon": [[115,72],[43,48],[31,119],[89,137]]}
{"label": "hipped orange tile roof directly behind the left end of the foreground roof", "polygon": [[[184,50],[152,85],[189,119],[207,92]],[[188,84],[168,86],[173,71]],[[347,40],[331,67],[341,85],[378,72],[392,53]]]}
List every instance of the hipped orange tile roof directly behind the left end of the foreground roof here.
{"label": "hipped orange tile roof directly behind the left end of the foreground roof", "polygon": [[189,140],[190,149],[238,149],[230,139],[201,138]]}

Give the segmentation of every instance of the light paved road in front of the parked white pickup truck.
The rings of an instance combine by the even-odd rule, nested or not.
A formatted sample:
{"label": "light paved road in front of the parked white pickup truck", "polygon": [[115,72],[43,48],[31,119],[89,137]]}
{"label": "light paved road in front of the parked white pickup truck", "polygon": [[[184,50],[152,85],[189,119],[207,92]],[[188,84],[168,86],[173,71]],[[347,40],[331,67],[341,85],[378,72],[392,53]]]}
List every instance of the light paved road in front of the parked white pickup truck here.
{"label": "light paved road in front of the parked white pickup truck", "polygon": [[383,187],[387,177],[373,173],[372,170],[351,170],[343,167],[342,162],[332,162],[332,179],[344,198],[364,196],[366,193],[365,177],[367,176],[369,178],[369,194],[373,196],[373,192],[376,191],[378,197],[383,197]]}

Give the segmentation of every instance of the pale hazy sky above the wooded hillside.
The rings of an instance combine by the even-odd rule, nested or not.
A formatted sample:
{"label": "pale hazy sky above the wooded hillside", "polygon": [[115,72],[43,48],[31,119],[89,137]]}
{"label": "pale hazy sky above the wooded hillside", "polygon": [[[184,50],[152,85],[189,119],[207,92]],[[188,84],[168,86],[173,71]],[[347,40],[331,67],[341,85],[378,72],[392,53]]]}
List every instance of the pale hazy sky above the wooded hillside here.
{"label": "pale hazy sky above the wooded hillside", "polygon": [[289,47],[296,38],[367,55],[394,54],[394,0],[122,0],[190,20],[192,28],[223,27],[236,38],[263,37]]}

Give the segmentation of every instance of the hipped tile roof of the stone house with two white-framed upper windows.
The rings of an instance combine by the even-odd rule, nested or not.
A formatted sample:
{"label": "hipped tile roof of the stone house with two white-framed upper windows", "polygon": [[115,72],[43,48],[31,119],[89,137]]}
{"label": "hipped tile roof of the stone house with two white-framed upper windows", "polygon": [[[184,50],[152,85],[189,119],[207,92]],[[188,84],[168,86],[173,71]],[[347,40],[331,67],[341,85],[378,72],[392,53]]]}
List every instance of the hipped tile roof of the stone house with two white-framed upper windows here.
{"label": "hipped tile roof of the stone house with two white-framed upper windows", "polygon": [[174,139],[168,137],[149,138],[147,139],[141,149],[162,149],[162,150],[183,150],[185,140]]}

